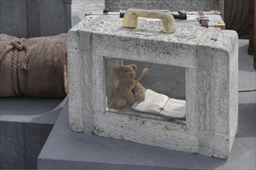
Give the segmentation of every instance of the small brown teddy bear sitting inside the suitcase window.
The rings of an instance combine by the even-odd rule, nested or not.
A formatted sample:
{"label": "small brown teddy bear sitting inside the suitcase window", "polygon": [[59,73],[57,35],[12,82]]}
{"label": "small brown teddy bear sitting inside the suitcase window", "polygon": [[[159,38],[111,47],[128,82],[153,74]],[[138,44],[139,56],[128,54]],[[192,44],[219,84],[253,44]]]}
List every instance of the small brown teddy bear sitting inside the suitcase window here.
{"label": "small brown teddy bear sitting inside the suitcase window", "polygon": [[145,90],[140,83],[137,82],[133,90],[129,90],[129,87],[136,81],[136,71],[137,65],[135,64],[123,65],[115,69],[119,84],[114,93],[114,104],[119,109],[126,107],[127,104],[133,104],[135,101],[145,100]]}

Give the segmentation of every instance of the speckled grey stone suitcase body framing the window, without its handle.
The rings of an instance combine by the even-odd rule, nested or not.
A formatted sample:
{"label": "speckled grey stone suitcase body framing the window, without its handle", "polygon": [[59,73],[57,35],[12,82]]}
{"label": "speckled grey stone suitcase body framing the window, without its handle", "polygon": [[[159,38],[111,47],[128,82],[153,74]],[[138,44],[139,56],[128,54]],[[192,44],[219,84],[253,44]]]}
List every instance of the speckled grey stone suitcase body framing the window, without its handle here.
{"label": "speckled grey stone suitcase body framing the window, without its handle", "polygon": [[[140,19],[136,29],[122,22],[118,16],[88,16],[68,32],[71,128],[227,158],[237,131],[237,33],[178,24],[166,34],[159,21]],[[105,58],[184,67],[185,125],[108,111],[111,68]]]}

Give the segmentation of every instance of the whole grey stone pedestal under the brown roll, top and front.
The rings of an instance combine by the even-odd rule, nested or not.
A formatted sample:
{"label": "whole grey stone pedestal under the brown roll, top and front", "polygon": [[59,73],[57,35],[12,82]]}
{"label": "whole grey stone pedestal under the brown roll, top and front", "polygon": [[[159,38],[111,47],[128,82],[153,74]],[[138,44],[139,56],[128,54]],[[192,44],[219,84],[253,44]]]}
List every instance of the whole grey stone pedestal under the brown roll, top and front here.
{"label": "whole grey stone pedestal under the brown roll, top and front", "polygon": [[0,168],[36,169],[63,98],[0,98]]}

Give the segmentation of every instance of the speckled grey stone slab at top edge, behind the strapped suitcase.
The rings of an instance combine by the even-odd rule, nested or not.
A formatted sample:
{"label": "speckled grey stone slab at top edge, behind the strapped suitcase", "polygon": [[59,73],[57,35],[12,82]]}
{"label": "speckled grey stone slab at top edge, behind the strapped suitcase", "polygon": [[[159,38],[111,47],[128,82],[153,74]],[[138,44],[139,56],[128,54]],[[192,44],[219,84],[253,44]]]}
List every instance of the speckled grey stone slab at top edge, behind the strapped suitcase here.
{"label": "speckled grey stone slab at top edge, behind the strapped suitcase", "polygon": [[224,12],[223,0],[105,0],[105,8],[110,11],[126,10],[127,8],[144,8],[144,9],[166,9],[170,11],[210,11],[220,10]]}

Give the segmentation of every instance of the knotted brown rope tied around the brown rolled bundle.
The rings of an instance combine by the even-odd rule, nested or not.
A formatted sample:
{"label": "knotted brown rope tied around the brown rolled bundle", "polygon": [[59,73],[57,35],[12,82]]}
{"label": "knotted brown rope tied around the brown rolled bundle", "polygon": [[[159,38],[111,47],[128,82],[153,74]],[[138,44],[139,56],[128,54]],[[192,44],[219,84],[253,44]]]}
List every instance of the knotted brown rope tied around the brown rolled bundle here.
{"label": "knotted brown rope tied around the brown rolled bundle", "polygon": [[22,96],[22,93],[19,90],[19,76],[18,76],[19,51],[22,51],[23,49],[26,50],[25,57],[21,63],[22,70],[27,70],[27,64],[29,62],[30,53],[31,53],[29,47],[22,44],[22,41],[24,41],[24,39],[12,41],[4,50],[0,51],[0,64],[1,64],[2,59],[4,59],[5,55],[7,53],[9,53],[10,50],[13,49],[13,53],[12,53],[12,82],[13,82],[14,91],[17,96]]}

